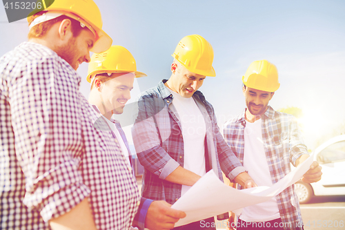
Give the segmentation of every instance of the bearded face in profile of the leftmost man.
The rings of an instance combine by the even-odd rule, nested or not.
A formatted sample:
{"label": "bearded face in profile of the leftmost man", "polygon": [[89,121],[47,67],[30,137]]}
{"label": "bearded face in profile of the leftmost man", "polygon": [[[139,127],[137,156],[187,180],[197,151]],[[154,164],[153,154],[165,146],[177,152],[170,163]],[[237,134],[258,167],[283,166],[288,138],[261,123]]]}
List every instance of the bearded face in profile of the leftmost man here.
{"label": "bearded face in profile of the leftmost man", "polygon": [[83,61],[90,62],[90,49],[94,43],[95,35],[90,30],[81,30],[77,37],[70,36],[66,43],[57,47],[55,51],[77,70]]}

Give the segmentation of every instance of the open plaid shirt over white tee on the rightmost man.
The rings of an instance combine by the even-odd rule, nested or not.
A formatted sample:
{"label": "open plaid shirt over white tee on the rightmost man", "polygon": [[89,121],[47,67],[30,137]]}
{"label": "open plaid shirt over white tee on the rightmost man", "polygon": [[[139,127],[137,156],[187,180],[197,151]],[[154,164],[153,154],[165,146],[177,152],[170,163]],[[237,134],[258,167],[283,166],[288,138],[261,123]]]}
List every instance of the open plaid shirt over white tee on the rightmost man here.
{"label": "open plaid shirt over white tee on the rightmost man", "polygon": [[[245,111],[224,124],[224,139],[242,164],[244,160]],[[274,111],[270,106],[262,115],[262,140],[273,184],[290,173],[290,162],[295,166],[298,157],[308,154],[295,117]],[[299,229],[302,225],[299,201],[294,188],[293,184],[277,195],[282,222],[291,224],[288,229]]]}

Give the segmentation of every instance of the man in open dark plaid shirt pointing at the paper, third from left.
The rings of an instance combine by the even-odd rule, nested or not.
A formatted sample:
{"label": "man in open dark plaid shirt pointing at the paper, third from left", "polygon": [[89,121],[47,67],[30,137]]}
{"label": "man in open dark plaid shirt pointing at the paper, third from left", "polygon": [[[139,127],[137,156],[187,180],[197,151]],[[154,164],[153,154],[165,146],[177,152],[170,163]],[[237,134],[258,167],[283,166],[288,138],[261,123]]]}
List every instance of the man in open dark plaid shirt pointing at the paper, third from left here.
{"label": "man in open dark plaid shirt pointing at the paper, third from left", "polygon": [[[206,76],[215,76],[212,46],[200,35],[189,35],[172,56],[170,79],[142,94],[132,128],[145,168],[143,197],[173,204],[210,169],[220,180],[223,170],[230,180],[255,186],[219,133],[213,107],[197,90]],[[201,221],[176,229],[215,229],[213,217]]]}

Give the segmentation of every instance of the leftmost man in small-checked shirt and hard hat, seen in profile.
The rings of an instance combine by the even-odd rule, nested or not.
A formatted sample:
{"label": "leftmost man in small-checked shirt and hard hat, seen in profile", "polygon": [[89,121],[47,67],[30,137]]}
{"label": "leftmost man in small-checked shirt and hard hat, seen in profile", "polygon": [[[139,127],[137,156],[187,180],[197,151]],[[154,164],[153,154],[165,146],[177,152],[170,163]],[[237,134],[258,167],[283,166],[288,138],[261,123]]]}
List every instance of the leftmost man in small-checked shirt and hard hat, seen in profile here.
{"label": "leftmost man in small-checked shirt and hard hat, seen in profile", "polygon": [[137,181],[75,71],[111,46],[99,8],[56,0],[28,21],[0,58],[0,229],[130,229]]}

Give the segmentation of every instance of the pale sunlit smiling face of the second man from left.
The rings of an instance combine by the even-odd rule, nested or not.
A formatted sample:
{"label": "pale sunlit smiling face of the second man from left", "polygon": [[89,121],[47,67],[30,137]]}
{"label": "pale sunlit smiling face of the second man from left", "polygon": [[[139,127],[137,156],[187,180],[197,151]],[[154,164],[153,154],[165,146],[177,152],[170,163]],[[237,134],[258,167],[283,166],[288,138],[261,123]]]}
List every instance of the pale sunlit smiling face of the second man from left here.
{"label": "pale sunlit smiling face of the second man from left", "polygon": [[101,83],[99,93],[107,112],[121,114],[124,112],[126,102],[130,99],[130,90],[133,88],[135,75],[132,73],[113,73],[111,77],[114,78]]}

